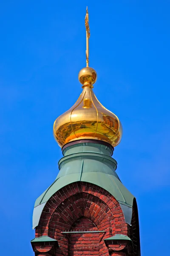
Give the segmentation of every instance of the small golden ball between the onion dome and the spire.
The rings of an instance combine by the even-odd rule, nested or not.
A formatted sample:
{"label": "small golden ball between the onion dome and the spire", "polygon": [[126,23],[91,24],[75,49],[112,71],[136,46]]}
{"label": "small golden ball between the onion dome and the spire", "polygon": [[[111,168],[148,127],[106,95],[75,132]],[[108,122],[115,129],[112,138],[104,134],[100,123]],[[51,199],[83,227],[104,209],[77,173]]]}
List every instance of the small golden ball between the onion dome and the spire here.
{"label": "small golden ball between the onion dome and the spire", "polygon": [[92,67],[84,67],[79,72],[79,81],[81,84],[94,84],[97,80],[97,73]]}

